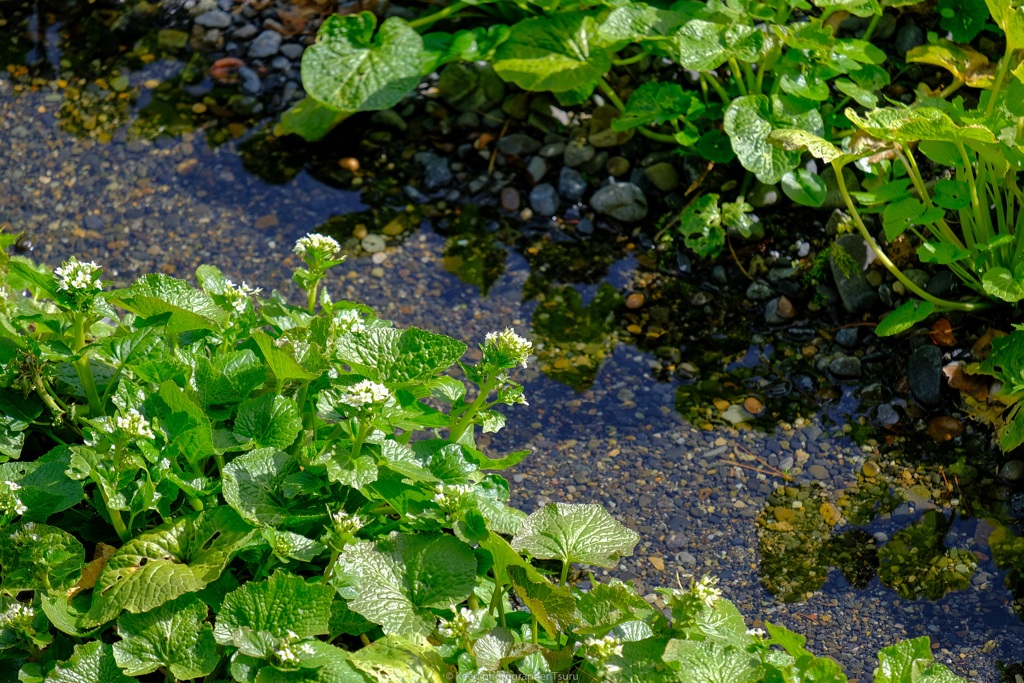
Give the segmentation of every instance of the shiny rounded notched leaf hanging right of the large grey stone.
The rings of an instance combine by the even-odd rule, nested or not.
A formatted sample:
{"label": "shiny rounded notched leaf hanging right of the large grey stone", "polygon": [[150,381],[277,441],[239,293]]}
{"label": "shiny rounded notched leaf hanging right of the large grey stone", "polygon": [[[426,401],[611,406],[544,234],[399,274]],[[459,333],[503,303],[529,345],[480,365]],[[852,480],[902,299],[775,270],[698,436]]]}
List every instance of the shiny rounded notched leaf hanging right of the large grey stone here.
{"label": "shiny rounded notched leaf hanging right of the large grey stone", "polygon": [[733,99],[725,111],[725,132],[732,140],[732,151],[758,180],[773,185],[786,171],[800,163],[799,152],[788,152],[768,141],[775,128],[798,128],[815,135],[822,132],[817,110],[801,112],[781,97],[748,95]]}

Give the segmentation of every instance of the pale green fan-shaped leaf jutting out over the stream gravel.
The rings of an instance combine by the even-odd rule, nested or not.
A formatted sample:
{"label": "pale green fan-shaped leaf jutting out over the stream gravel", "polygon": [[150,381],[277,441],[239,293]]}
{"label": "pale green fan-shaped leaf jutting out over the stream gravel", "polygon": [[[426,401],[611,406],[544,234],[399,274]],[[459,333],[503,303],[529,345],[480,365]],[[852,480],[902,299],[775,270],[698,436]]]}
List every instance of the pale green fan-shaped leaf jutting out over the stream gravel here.
{"label": "pale green fan-shaped leaf jutting out over the stream gravel", "polygon": [[551,503],[526,518],[511,545],[539,559],[610,568],[632,555],[639,541],[600,505]]}

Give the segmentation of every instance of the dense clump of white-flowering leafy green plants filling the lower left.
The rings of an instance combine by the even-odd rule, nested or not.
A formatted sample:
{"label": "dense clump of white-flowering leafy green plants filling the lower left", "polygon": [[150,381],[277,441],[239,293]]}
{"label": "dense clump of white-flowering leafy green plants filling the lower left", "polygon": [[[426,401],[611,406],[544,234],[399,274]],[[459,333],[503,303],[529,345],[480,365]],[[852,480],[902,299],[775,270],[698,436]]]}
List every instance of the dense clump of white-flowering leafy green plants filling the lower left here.
{"label": "dense clump of white-flowering leafy green plants filling the lower left", "polygon": [[[508,505],[496,472],[526,454],[476,437],[525,403],[530,342],[463,361],[333,300],[333,241],[296,254],[304,306],[211,266],[111,288],[0,249],[3,680],[846,680],[710,578],[664,610],[571,585],[639,537],[597,505]],[[957,679],[919,638],[877,680]]]}

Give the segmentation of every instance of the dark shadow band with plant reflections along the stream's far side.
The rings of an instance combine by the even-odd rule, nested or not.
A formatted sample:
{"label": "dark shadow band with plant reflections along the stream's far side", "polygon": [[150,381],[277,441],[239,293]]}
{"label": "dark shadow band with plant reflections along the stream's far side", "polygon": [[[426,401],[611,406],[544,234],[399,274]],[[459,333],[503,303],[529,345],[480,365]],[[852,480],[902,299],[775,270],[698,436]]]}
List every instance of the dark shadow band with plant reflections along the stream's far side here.
{"label": "dark shadow band with plant reflections along the stream's far side", "polygon": [[[211,202],[273,215],[286,195],[301,193],[291,201],[305,214],[292,231],[316,225],[353,258],[374,259],[426,223],[443,239],[443,268],[484,300],[525,268],[521,298],[530,302],[538,365],[575,392],[591,389],[602,365],[626,348],[645,358],[647,374],[635,381],[671,383],[675,409],[701,429],[770,436],[780,424],[820,416],[858,442],[878,440],[886,458],[866,463],[856,483],[829,490],[786,481],[768,496],[754,522],[758,571],[778,600],[881,583],[904,600],[941,602],[972,585],[989,593],[1006,586],[1024,613],[1024,493],[984,474],[997,461],[983,433],[969,425],[964,436],[934,443],[921,435],[926,416],[890,382],[838,377],[822,364],[819,346],[837,332],[827,315],[768,324],[763,306],[745,302],[745,281],[699,267],[670,272],[639,234],[523,224],[495,206],[444,199],[409,206],[410,159],[389,159],[378,131],[348,130],[318,145],[274,137],[260,121],[268,102],[213,79],[204,58],[184,49],[187,35],[163,28],[156,12],[142,2],[5,4],[0,58],[14,96],[18,88],[46,92],[61,130],[100,143],[197,131],[211,150],[230,142],[238,155],[220,159],[219,172],[252,174],[254,191]],[[178,171],[173,182],[197,188],[220,177]],[[864,337],[861,376],[899,376],[896,355]],[[882,407],[903,419],[894,423]],[[783,479],[795,464],[752,455],[752,467]],[[993,633],[1020,626],[1006,610],[990,613]],[[1020,669],[1008,665],[1006,680]]]}

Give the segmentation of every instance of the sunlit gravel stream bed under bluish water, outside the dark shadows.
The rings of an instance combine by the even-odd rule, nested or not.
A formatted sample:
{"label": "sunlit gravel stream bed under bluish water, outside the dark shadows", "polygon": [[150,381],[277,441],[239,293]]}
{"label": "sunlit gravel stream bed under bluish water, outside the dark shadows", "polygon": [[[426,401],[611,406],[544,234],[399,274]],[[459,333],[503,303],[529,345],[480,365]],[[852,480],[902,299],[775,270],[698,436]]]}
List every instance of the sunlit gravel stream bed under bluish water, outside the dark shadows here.
{"label": "sunlit gravel stream bed under bluish water, outside the dark shadows", "polygon": [[[151,270],[190,278],[209,262],[232,280],[291,292],[294,241],[332,216],[365,208],[354,193],[304,173],[266,184],[246,171],[232,142],[211,150],[201,134],[189,133],[101,144],[61,132],[55,113],[45,91],[15,96],[0,77],[0,139],[7,145],[0,157],[0,220],[25,231],[32,256],[50,265],[76,254],[123,283]],[[577,146],[573,155],[586,156],[586,145]],[[552,198],[530,194],[527,201],[544,200]],[[476,287],[445,269],[444,247],[443,237],[425,228],[383,248],[375,243],[337,269],[332,294],[365,301],[401,326],[471,342],[505,326],[529,329],[537,304],[524,302],[529,271],[521,256],[509,252],[505,274],[481,299]],[[611,286],[625,289],[633,265],[612,267]],[[701,301],[711,301],[703,294]],[[836,375],[854,374],[845,358],[833,361],[840,361]],[[935,602],[901,599],[877,579],[854,590],[835,570],[806,600],[776,602],[758,579],[755,518],[782,482],[757,471],[764,468],[755,454],[825,496],[855,482],[877,454],[819,417],[768,432],[698,428],[676,411],[676,384],[650,380],[654,362],[616,345],[581,393],[536,365],[521,371],[530,405],[508,411],[508,428],[484,441],[499,452],[534,451],[508,473],[514,502],[526,510],[549,501],[607,506],[642,537],[634,557],[612,573],[634,579],[646,594],[694,573],[716,573],[753,626],[772,621],[804,633],[808,646],[841,661],[851,680],[870,680],[880,646],[920,635],[931,636],[936,658],[970,680],[994,682],[996,660],[1024,658],[1024,626],[990,563],[980,582],[976,575],[968,590]],[[887,532],[886,523],[879,522],[879,533]]]}

